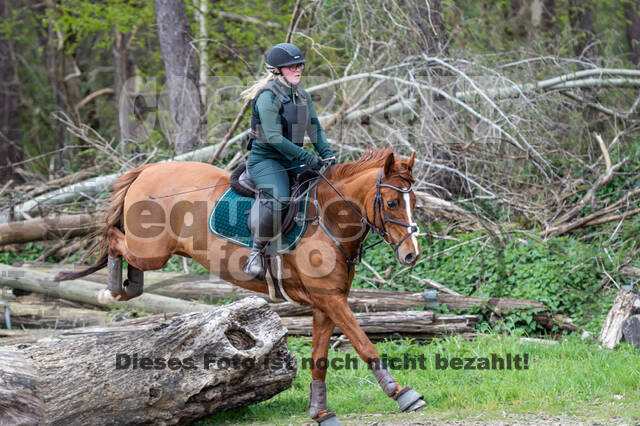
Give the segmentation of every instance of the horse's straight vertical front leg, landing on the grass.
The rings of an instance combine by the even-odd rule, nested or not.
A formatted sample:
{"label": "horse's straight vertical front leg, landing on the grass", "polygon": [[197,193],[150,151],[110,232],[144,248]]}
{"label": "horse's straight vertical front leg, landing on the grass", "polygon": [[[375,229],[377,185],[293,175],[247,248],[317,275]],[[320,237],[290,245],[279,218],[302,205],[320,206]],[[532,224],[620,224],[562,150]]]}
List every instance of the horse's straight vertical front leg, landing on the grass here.
{"label": "horse's straight vertical front leg, landing on the grass", "polygon": [[[335,413],[327,411],[327,357],[329,343],[335,324],[320,309],[313,310],[313,333],[311,343],[311,385],[309,395],[309,415],[322,426],[341,425]],[[321,363],[320,360],[325,360]]]}

